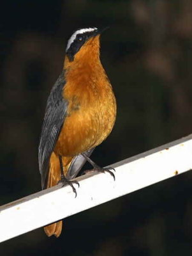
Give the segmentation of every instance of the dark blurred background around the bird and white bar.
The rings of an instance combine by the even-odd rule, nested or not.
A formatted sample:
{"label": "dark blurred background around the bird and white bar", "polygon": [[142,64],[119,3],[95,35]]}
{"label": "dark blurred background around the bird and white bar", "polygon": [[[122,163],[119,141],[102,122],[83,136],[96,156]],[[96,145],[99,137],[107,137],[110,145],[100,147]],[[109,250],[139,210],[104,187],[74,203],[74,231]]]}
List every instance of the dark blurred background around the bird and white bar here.
{"label": "dark blurred background around the bird and white bar", "polygon": [[[192,1],[4,1],[0,16],[2,205],[41,189],[45,103],[78,28],[110,26],[101,36],[101,61],[117,97],[117,121],[92,154],[96,163],[191,133]],[[191,172],[165,180],[67,218],[58,239],[39,228],[6,241],[1,254],[191,255],[191,182]]]}

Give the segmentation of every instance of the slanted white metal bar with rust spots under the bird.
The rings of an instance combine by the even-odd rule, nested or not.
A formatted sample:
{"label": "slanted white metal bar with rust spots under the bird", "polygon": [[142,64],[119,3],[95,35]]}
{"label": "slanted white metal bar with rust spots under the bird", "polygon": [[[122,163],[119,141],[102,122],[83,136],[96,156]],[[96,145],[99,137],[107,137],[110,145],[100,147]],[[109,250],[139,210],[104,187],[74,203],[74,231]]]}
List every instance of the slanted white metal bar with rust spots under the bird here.
{"label": "slanted white metal bar with rust spots under the bird", "polygon": [[78,177],[77,198],[70,186],[40,191],[0,207],[0,241],[19,236],[48,223],[192,168],[192,134],[138,156],[112,164],[115,181],[108,173],[91,173]]}

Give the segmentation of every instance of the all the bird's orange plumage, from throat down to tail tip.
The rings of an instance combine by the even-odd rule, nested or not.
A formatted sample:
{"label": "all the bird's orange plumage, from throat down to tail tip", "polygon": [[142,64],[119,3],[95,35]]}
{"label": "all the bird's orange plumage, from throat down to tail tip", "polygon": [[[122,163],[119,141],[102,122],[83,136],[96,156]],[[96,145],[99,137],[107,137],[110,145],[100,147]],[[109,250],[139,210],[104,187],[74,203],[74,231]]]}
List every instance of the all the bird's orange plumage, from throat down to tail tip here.
{"label": "all the bird's orange plumage, from throat down to tail tip", "polygon": [[[50,156],[47,188],[61,180],[59,156],[64,175],[73,157],[100,145],[112,131],[116,102],[112,86],[100,62],[100,35],[91,36],[73,61],[64,60],[63,99],[68,102],[66,118]],[[48,236],[61,234],[62,221],[48,225]]]}

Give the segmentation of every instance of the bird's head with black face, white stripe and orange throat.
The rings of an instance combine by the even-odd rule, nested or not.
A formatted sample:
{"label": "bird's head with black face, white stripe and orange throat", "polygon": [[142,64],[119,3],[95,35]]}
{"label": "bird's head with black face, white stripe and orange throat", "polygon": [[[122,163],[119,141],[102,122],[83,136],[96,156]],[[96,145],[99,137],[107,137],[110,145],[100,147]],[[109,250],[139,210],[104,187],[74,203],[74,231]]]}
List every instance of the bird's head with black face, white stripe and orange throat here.
{"label": "bird's head with black face, white stripe and orange throat", "polygon": [[90,58],[100,56],[100,34],[105,29],[82,28],[71,35],[66,47],[68,61],[78,61],[89,55]]}

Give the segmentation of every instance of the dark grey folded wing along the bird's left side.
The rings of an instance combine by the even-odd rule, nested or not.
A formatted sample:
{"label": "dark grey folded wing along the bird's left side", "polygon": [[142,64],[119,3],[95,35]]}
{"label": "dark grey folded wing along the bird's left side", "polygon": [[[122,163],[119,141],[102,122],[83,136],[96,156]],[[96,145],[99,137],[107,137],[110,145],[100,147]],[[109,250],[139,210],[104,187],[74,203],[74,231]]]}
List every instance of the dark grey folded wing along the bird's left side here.
{"label": "dark grey folded wing along the bird's left side", "polygon": [[64,84],[62,73],[50,92],[45,109],[38,152],[42,189],[47,186],[50,156],[66,118],[68,102],[63,99],[62,95]]}

